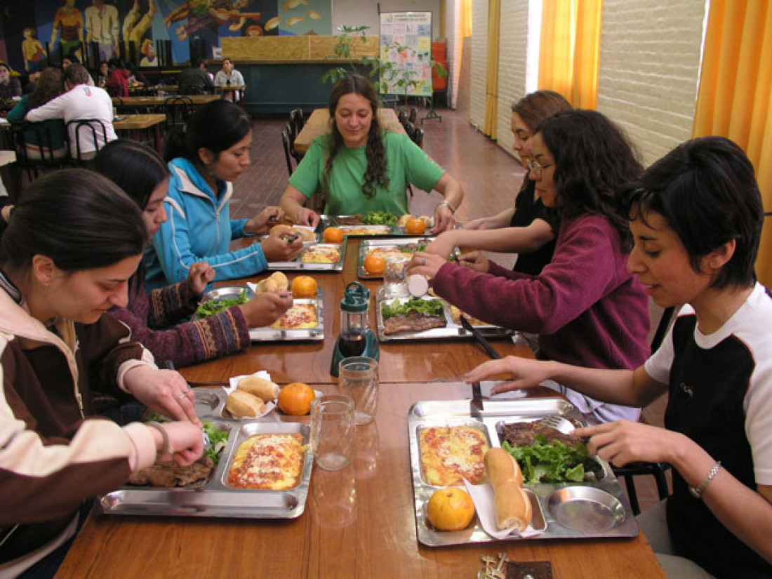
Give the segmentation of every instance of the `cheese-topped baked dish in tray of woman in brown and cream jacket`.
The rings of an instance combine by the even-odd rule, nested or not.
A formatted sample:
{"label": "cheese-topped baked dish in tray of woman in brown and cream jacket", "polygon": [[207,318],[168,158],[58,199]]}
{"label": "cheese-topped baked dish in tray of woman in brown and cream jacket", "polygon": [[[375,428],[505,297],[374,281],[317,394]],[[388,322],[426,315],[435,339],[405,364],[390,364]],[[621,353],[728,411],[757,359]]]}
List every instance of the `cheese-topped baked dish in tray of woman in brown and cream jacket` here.
{"label": "cheese-topped baked dish in tray of woman in brown and cream jacket", "polygon": [[303,474],[303,435],[264,434],[247,438],[236,449],[228,471],[235,489],[286,490]]}

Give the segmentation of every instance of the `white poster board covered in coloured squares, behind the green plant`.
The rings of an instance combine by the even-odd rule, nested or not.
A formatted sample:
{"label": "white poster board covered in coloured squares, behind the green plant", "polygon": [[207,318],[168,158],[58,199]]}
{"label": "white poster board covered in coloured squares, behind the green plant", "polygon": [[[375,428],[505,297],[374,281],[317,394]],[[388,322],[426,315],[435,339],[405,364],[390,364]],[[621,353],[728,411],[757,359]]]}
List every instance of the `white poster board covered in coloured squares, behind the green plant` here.
{"label": "white poster board covered in coloured squares, behind the green plant", "polygon": [[[402,48],[404,47],[404,49]],[[381,60],[394,63],[398,73],[381,77],[381,93],[432,96],[432,12],[381,12]],[[399,80],[415,85],[399,86]]]}

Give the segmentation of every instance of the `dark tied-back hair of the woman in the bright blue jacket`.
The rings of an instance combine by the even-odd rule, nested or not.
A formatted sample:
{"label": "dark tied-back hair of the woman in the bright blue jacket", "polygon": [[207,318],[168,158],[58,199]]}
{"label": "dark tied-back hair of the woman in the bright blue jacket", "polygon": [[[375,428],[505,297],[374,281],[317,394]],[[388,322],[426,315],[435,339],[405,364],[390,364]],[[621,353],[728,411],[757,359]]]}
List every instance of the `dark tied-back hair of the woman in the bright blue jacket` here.
{"label": "dark tied-back hair of the woman in the bright blue jacket", "polygon": [[176,128],[168,134],[164,158],[171,161],[185,157],[200,165],[198,149],[212,151],[215,159],[222,151],[241,141],[252,130],[249,115],[242,107],[227,100],[213,100],[191,114],[185,129]]}

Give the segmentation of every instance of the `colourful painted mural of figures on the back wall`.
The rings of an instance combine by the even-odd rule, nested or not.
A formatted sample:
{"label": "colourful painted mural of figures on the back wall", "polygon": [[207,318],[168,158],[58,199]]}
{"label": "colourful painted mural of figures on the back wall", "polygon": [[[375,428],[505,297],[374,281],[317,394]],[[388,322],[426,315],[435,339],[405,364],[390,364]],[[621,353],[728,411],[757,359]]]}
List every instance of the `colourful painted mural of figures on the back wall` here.
{"label": "colourful painted mural of figures on the back wall", "polygon": [[[332,0],[35,0],[0,8],[0,59],[19,74],[32,73],[63,56],[83,60],[130,55],[140,66],[157,66],[157,40],[171,43],[171,63],[187,63],[191,41],[203,42],[203,58],[224,36],[332,33]],[[201,39],[197,41],[195,39]],[[49,54],[50,52],[50,54]],[[93,55],[90,55],[93,56]]]}

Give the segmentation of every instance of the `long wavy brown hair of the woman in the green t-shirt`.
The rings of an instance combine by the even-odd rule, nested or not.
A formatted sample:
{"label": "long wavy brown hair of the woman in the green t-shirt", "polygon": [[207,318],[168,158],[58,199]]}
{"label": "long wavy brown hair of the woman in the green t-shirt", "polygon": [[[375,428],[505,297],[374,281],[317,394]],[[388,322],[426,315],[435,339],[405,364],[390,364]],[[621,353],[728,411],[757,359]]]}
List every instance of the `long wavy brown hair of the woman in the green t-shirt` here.
{"label": "long wavy brown hair of the woman in the green t-shirt", "polygon": [[330,93],[328,105],[330,110],[330,146],[327,151],[327,163],[324,166],[322,190],[325,194],[330,195],[329,181],[333,160],[340,151],[340,147],[345,146],[343,135],[340,134],[337,124],[335,124],[335,111],[340,97],[350,93],[358,94],[367,99],[373,111],[373,120],[370,124],[370,132],[367,134],[367,147],[365,148],[367,169],[364,171],[364,185],[362,185],[362,193],[366,198],[371,199],[375,195],[376,188],[388,187],[389,179],[386,174],[386,151],[381,140],[381,125],[378,124],[378,97],[371,82],[360,74],[344,76],[335,84],[332,93]]}

